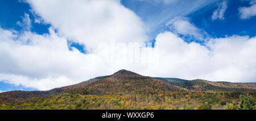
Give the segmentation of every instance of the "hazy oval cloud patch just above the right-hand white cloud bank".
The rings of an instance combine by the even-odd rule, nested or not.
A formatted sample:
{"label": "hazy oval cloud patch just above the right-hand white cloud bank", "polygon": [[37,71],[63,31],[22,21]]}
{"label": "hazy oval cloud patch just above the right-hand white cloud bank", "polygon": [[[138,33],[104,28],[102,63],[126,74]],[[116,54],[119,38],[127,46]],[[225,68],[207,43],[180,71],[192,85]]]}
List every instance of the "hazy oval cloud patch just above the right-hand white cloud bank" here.
{"label": "hazy oval cloud patch just above the right-hand white cloud bank", "polygon": [[166,26],[169,26],[170,29],[177,34],[184,36],[191,36],[197,40],[205,40],[205,37],[208,36],[207,32],[200,30],[191,22],[188,18],[177,16],[174,19],[171,19]]}

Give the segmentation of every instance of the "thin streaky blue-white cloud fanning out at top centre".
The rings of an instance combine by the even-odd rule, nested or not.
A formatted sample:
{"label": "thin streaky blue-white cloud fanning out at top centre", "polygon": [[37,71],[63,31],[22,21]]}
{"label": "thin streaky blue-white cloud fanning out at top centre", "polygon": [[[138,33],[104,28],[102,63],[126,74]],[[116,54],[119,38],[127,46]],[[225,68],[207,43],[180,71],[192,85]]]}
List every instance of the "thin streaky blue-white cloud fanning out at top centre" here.
{"label": "thin streaky blue-white cloud fanning out at top centre", "polygon": [[154,40],[159,31],[164,32],[163,28],[170,19],[175,16],[187,16],[216,1],[218,0],[179,0],[163,4],[163,1],[144,0],[143,3],[138,4],[129,0],[127,7],[142,18],[149,39]]}

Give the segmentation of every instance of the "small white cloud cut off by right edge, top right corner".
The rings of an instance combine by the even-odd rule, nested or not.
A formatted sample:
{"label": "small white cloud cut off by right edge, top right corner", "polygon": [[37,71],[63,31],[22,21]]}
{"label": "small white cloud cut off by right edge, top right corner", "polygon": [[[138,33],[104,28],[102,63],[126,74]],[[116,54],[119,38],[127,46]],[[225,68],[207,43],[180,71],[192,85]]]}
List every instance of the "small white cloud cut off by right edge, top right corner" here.
{"label": "small white cloud cut off by right edge, top right corner", "polygon": [[249,19],[256,15],[256,3],[251,2],[250,7],[240,7],[238,10],[241,19]]}

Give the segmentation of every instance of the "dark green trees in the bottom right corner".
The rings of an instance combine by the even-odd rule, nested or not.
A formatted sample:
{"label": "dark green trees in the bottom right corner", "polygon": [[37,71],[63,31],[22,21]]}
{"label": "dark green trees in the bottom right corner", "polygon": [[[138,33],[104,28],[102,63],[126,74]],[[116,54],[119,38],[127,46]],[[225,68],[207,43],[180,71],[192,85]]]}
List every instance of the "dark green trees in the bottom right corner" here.
{"label": "dark green trees in the bottom right corner", "polygon": [[252,95],[243,96],[240,95],[240,109],[242,110],[253,110],[255,109],[255,99]]}

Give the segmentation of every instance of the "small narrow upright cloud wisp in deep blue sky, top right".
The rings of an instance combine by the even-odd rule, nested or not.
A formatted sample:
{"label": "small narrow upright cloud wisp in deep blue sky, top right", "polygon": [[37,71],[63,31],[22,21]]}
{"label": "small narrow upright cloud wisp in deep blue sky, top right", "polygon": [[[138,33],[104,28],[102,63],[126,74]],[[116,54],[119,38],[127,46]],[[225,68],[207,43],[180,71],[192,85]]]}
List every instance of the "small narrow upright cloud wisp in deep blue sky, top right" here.
{"label": "small narrow upright cloud wisp in deep blue sky, top right", "polygon": [[228,8],[227,6],[227,1],[222,1],[219,5],[218,5],[218,9],[216,9],[213,14],[212,14],[212,20],[216,20],[216,19],[220,19],[220,20],[224,20],[224,14],[226,9]]}

